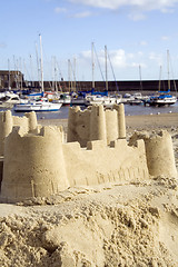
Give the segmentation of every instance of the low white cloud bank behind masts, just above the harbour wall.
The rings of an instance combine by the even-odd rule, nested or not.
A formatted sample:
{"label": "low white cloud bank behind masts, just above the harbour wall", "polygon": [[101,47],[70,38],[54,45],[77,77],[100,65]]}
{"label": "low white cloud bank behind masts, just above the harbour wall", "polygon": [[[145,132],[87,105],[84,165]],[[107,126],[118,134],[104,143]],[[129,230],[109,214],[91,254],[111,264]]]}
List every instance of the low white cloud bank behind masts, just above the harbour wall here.
{"label": "low white cloud bank behind masts, just above the harbour wall", "polygon": [[[97,55],[96,55],[97,53]],[[101,73],[105,79],[105,50],[97,50],[95,53],[95,76],[96,80],[101,80]],[[116,77],[125,77],[126,79],[135,79],[139,77],[139,66],[141,67],[142,78],[154,77],[159,78],[160,66],[167,66],[165,63],[166,56],[161,53],[135,51],[129,52],[125,49],[108,50],[110,60],[108,59],[108,79],[113,79],[112,70]],[[99,62],[99,63],[98,63]],[[110,66],[111,62],[111,66]],[[91,79],[91,50],[86,50],[77,55],[77,65],[80,68],[80,72]],[[111,68],[112,67],[112,68]],[[165,68],[165,67],[164,67]],[[165,70],[164,70],[165,71]],[[165,73],[165,72],[162,72]],[[131,78],[135,77],[135,78]],[[81,78],[80,78],[81,79]],[[118,78],[117,78],[118,79]],[[152,78],[151,78],[152,79]]]}

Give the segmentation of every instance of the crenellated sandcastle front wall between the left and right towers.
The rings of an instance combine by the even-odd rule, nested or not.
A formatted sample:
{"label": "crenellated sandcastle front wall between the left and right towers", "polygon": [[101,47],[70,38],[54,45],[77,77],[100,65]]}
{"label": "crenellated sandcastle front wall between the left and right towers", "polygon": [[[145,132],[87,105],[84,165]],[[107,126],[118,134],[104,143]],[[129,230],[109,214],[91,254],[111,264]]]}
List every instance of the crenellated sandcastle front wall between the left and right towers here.
{"label": "crenellated sandcastle front wall between the left and right towers", "polygon": [[121,139],[110,146],[102,140],[89,141],[85,149],[78,142],[71,142],[63,145],[63,156],[70,186],[144,180],[149,177],[142,140],[136,147],[129,147]]}

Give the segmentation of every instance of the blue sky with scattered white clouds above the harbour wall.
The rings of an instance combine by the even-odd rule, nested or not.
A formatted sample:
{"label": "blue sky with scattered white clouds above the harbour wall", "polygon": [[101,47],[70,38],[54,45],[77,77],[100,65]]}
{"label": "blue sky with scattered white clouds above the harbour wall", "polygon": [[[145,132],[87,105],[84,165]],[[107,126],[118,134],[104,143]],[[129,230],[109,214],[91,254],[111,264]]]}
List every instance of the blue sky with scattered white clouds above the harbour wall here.
{"label": "blue sky with scattered white clouds above the harbour wall", "polygon": [[0,13],[0,70],[26,80],[41,60],[44,80],[178,79],[178,0],[1,0]]}

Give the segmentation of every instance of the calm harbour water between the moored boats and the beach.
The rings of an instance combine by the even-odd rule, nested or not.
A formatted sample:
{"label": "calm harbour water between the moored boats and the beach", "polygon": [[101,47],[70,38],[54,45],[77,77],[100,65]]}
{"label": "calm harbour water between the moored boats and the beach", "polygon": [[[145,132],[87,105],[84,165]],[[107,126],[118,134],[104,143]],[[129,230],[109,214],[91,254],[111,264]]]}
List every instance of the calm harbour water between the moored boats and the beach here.
{"label": "calm harbour water between the moored boats and the beach", "polygon": [[[61,107],[59,111],[55,112],[37,112],[38,119],[67,119],[69,107]],[[149,113],[178,113],[178,102],[169,107],[145,107],[144,105],[131,106],[125,105],[126,115],[149,115]],[[23,112],[14,112],[13,116],[23,116]]]}

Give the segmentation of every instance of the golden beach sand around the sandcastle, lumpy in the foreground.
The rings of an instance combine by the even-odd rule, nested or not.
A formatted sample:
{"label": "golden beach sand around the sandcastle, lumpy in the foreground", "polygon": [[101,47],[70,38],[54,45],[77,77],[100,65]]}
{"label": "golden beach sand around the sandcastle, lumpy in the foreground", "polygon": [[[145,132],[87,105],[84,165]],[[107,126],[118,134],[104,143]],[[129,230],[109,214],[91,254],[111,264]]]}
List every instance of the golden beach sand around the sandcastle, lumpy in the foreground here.
{"label": "golden beach sand around the sandcastle, lumpy in the foreground", "polygon": [[[63,125],[67,120],[40,120]],[[135,130],[167,129],[178,166],[178,115],[127,116]],[[178,182],[76,187],[57,197],[0,204],[0,266],[178,266]]]}

